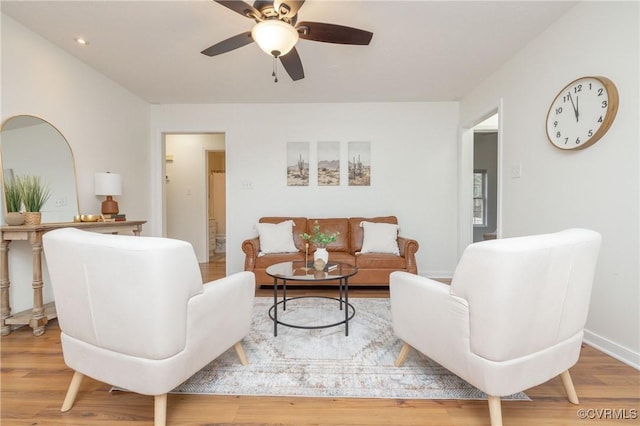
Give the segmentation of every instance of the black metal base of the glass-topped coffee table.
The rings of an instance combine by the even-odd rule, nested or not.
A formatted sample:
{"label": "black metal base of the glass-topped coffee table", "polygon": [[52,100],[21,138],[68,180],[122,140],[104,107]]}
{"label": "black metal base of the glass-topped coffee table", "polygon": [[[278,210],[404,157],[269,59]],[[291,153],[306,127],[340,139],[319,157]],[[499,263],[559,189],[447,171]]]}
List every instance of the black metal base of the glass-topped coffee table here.
{"label": "black metal base of the glass-topped coffee table", "polygon": [[[281,278],[282,279],[282,278]],[[344,295],[344,297],[343,297]],[[287,310],[287,302],[296,299],[310,299],[310,298],[318,298],[318,299],[330,299],[338,302],[340,310],[344,310],[344,320],[338,321],[332,324],[323,324],[323,325],[314,325],[314,326],[305,326],[305,325],[296,325],[286,323],[284,321],[280,321],[278,319],[278,306],[282,306],[282,310]],[[344,308],[344,309],[343,309]],[[269,308],[269,318],[273,321],[273,335],[278,335],[278,324],[284,325],[286,327],[292,328],[300,328],[305,330],[314,330],[319,328],[330,328],[336,327],[340,324],[344,324],[344,333],[345,336],[349,335],[349,320],[352,319],[356,314],[356,309],[353,307],[351,303],[349,303],[349,283],[347,278],[340,279],[339,285],[339,297],[328,297],[328,296],[298,296],[298,297],[290,297],[287,298],[287,280],[282,279],[282,300],[278,301],[278,278],[274,278],[273,280],[273,305]]]}

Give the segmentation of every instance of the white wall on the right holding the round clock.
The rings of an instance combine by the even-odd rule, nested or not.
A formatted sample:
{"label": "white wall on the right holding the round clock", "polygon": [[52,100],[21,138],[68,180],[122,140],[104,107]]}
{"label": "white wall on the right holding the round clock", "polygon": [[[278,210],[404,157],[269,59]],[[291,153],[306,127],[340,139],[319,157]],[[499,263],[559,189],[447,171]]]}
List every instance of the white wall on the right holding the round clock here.
{"label": "white wall on the right holding the round clock", "polygon": [[[585,227],[603,245],[586,338],[640,366],[639,314],[639,3],[584,2],[521,50],[461,102],[473,123],[503,99],[504,236]],[[562,152],[547,141],[546,114],[572,80],[603,75],[620,109],[595,145]],[[511,179],[512,165],[522,177]]]}

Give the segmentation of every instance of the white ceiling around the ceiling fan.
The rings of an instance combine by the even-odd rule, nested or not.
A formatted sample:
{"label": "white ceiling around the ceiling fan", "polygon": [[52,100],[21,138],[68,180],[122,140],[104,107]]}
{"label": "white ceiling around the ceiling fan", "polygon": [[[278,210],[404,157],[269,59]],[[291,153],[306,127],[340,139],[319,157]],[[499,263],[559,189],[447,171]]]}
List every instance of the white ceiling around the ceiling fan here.
{"label": "white ceiling around the ceiling fan", "polygon": [[[200,51],[253,21],[212,0],[7,1],[2,13],[150,103],[452,101],[576,4],[564,1],[307,0],[298,21],[374,33],[369,46],[300,40],[292,81],[252,43]],[[89,46],[74,38],[84,37]]]}

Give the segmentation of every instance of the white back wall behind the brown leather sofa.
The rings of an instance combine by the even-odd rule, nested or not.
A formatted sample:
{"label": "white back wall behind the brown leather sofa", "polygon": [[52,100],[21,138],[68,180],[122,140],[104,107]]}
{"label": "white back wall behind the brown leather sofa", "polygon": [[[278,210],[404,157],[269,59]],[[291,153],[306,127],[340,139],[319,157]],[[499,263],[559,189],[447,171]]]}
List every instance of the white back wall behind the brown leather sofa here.
{"label": "white back wall behind the brown leather sofa", "polygon": [[[152,107],[153,194],[162,192],[163,133],[223,132],[227,169],[227,271],[244,267],[242,241],[261,216],[396,215],[420,243],[418,271],[450,276],[456,260],[457,103],[160,105]],[[370,187],[287,187],[286,145],[370,141]],[[312,167],[313,169],[313,167]],[[250,183],[252,189],[243,189]],[[154,206],[161,215],[162,206]],[[154,233],[161,217],[154,216]],[[202,228],[202,238],[206,238]]]}

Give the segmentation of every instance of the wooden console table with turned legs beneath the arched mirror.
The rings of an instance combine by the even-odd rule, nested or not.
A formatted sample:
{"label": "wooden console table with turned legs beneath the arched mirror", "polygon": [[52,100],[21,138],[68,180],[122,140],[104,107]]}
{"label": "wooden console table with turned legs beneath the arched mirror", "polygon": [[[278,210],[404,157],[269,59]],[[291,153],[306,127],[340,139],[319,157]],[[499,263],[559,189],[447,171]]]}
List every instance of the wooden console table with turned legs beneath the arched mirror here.
{"label": "wooden console table with turned legs beneath the arched mirror", "polygon": [[[140,235],[146,220],[124,222],[64,222],[43,223],[41,225],[0,226],[0,335],[11,333],[12,325],[28,324],[33,334],[41,336],[50,319],[56,318],[54,302],[43,305],[42,301],[42,235],[59,228],[78,228],[103,234],[133,232]],[[33,309],[11,315],[9,304],[9,243],[29,241],[33,256]]]}

